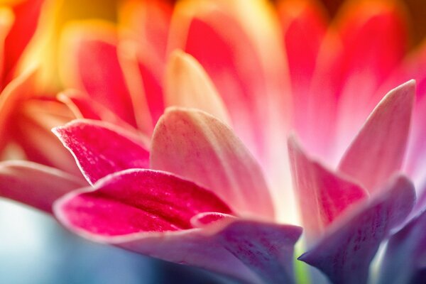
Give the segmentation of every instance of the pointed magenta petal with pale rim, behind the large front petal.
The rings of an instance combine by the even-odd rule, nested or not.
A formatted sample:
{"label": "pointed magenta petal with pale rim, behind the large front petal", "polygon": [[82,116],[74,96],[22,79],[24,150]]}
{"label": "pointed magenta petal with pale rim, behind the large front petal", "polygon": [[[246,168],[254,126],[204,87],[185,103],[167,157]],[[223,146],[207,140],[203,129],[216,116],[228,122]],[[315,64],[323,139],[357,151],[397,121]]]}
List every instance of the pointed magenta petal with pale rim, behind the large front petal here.
{"label": "pointed magenta petal with pale rim, behind the large front petal", "polygon": [[138,137],[112,124],[77,119],[56,127],[53,133],[74,155],[90,183],[129,168],[148,168],[149,152]]}

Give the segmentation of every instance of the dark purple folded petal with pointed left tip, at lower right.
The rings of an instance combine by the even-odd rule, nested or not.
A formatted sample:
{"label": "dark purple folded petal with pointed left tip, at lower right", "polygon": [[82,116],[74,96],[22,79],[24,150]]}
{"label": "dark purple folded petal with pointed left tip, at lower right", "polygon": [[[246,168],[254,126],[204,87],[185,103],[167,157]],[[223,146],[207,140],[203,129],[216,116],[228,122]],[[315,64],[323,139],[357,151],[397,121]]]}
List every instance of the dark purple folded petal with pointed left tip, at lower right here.
{"label": "dark purple folded petal with pointed left tip, at lower right", "polygon": [[400,225],[415,203],[412,183],[398,177],[371,202],[340,219],[307,253],[300,256],[332,283],[366,283],[368,268],[383,239]]}

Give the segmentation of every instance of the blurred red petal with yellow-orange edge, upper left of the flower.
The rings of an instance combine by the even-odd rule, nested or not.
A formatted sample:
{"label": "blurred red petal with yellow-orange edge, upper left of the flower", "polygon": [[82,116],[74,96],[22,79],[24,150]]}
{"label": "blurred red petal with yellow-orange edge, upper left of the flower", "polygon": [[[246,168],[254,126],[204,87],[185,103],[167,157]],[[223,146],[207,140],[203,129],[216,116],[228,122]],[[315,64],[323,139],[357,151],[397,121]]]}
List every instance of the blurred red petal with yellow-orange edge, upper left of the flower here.
{"label": "blurred red petal with yellow-orange edge, upper left of the flower", "polygon": [[117,40],[114,27],[107,23],[67,26],[62,34],[60,75],[66,87],[84,90],[91,99],[136,126],[117,55]]}

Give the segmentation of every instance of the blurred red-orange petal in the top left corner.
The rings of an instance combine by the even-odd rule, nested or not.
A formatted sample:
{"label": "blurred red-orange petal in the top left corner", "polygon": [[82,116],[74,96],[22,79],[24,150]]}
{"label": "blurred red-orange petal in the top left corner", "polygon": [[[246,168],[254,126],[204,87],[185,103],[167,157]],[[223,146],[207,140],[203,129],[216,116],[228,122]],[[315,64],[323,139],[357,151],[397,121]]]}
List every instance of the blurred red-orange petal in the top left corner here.
{"label": "blurred red-orange petal in the top left corner", "polygon": [[13,6],[14,20],[4,41],[3,80],[1,85],[13,79],[16,65],[37,27],[44,0],[24,0]]}

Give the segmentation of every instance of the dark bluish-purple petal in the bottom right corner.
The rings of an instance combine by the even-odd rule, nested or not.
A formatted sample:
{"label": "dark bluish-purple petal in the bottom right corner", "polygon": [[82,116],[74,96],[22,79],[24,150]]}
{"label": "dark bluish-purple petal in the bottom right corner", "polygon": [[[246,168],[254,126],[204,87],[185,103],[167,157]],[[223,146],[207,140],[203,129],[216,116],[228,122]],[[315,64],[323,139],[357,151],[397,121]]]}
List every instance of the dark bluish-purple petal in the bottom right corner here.
{"label": "dark bluish-purple petal in the bottom right corner", "polygon": [[[378,283],[421,283],[426,268],[426,211],[394,234],[386,246]],[[423,273],[423,278],[420,276]]]}

